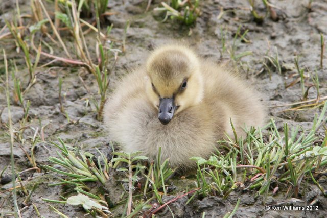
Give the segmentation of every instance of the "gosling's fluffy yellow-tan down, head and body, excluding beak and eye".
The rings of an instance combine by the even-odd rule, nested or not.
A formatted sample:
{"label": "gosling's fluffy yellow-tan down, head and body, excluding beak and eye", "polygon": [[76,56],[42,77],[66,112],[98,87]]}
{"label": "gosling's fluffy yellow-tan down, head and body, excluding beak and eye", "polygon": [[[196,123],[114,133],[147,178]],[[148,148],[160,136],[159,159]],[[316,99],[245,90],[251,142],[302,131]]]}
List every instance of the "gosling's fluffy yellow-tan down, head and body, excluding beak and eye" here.
{"label": "gosling's fluffy yellow-tan down, head and body, excluding beak and eye", "polygon": [[[176,112],[164,125],[158,113],[168,98]],[[233,135],[230,118],[244,135],[244,124],[261,126],[264,116],[258,96],[230,70],[177,45],[155,50],[145,66],[121,81],[104,108],[111,140],[122,150],[155,159],[161,147],[161,159],[184,170],[196,166],[191,157],[211,155],[224,132]]]}

